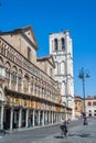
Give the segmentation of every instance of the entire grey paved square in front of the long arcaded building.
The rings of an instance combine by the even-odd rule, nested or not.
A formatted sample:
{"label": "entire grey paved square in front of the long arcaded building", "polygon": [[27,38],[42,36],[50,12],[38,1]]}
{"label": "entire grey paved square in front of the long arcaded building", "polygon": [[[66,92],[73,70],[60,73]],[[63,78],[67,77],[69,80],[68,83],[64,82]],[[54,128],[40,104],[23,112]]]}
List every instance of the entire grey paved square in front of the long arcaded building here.
{"label": "entire grey paved square in front of the long arcaded building", "polygon": [[68,124],[68,136],[61,135],[60,125],[35,128],[25,131],[14,131],[0,139],[0,143],[96,143],[96,120],[74,121]]}

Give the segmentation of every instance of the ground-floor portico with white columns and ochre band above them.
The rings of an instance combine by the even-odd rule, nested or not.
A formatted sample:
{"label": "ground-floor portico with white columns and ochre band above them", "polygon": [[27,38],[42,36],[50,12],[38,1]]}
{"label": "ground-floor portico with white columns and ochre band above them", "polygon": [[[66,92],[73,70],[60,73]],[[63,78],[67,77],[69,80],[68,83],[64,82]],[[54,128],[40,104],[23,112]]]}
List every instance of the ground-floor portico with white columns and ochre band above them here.
{"label": "ground-floor portico with white columns and ochre band above them", "polygon": [[0,129],[34,128],[61,122],[65,107],[36,96],[3,91],[0,101]]}

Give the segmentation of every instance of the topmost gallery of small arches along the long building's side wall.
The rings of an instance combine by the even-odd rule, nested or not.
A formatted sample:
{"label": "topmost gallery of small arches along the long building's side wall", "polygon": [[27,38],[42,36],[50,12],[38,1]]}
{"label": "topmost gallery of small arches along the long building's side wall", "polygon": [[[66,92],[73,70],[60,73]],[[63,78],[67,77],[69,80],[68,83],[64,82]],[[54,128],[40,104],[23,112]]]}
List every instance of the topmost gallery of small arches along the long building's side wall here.
{"label": "topmost gallery of small arches along the long building's side wall", "polygon": [[[50,76],[47,76],[43,70],[41,70],[38,66],[29,62],[23,55],[21,55],[17,50],[14,50],[10,44],[7,45],[4,40],[0,37],[0,53],[4,55],[4,57],[11,59],[17,65],[23,67],[29,73],[34,75],[35,77],[39,77],[52,85],[55,85],[55,80],[52,79]],[[14,55],[13,55],[13,54]],[[10,56],[9,56],[10,55]],[[11,55],[14,58],[11,58]]]}

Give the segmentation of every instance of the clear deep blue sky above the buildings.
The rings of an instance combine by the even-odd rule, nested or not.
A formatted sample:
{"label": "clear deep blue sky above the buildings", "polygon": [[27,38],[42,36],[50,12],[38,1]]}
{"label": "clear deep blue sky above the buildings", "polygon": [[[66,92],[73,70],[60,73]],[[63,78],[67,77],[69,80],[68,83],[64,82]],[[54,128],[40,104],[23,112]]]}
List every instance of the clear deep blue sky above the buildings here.
{"label": "clear deep blue sky above the buildings", "polygon": [[71,30],[75,94],[83,96],[78,70],[84,67],[86,96],[96,95],[96,0],[0,0],[0,31],[32,25],[38,56],[49,54],[49,33]]}

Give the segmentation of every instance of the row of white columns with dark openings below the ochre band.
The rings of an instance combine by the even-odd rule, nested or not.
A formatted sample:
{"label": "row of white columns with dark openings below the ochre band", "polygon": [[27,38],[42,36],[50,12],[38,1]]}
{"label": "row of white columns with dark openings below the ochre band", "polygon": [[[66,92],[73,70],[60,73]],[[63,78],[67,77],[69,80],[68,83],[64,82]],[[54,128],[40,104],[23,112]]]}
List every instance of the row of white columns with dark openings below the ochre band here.
{"label": "row of white columns with dark openings below the ochre band", "polygon": [[61,121],[63,113],[15,107],[0,107],[0,128],[13,130],[53,124]]}

